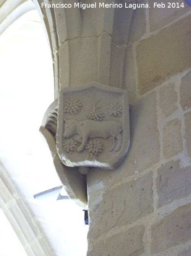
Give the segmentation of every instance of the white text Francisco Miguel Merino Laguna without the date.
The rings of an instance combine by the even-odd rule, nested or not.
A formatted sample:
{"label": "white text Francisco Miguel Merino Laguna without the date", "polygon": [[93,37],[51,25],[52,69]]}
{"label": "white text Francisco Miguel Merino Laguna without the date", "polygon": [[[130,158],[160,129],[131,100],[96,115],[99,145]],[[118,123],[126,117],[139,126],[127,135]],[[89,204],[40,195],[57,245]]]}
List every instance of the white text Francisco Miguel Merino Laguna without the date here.
{"label": "white text Francisco Miguel Merino Laguna without the date", "polygon": [[[122,3],[41,3],[41,7],[45,8],[81,8],[81,9],[86,9],[86,8],[122,8],[123,5]],[[144,3],[126,3],[125,2],[125,8],[149,8],[148,4]]]}

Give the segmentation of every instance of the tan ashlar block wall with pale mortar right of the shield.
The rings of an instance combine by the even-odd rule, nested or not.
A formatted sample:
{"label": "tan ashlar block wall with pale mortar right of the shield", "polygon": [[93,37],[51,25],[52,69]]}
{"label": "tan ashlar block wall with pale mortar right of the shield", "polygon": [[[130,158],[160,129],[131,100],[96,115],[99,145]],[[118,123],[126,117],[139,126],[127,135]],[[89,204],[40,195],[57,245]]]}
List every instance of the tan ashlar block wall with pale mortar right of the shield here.
{"label": "tan ashlar block wall with pale mortar right of the shield", "polygon": [[191,255],[191,8],[146,3],[115,55],[130,99],[128,155],[87,174],[88,256]]}

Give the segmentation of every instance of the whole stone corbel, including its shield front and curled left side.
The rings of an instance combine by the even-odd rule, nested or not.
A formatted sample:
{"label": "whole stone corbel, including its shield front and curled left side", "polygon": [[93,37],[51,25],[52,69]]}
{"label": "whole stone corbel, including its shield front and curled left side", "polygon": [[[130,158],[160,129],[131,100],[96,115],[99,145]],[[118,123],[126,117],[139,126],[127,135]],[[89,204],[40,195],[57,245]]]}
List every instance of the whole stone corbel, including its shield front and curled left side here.
{"label": "whole stone corbel, including its shield front and curled left side", "polygon": [[40,133],[68,196],[86,208],[89,167],[114,169],[129,148],[127,91],[91,82],[62,88]]}

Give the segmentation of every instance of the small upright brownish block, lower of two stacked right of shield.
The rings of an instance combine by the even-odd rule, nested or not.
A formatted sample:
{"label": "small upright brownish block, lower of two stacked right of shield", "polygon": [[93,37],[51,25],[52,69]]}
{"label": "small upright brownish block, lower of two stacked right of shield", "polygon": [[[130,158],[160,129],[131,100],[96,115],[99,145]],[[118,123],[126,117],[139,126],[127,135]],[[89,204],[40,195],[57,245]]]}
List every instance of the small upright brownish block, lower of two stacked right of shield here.
{"label": "small upright brownish block, lower of two stacked right of shield", "polygon": [[167,122],[163,128],[163,156],[165,159],[182,150],[181,122],[178,118]]}

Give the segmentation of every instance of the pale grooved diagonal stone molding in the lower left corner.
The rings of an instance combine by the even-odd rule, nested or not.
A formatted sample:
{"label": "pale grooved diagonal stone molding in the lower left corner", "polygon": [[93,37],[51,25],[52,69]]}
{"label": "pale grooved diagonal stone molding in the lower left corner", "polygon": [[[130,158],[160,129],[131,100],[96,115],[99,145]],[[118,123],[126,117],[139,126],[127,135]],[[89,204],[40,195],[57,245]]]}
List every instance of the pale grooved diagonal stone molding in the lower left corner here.
{"label": "pale grooved diagonal stone molding in the lower left corner", "polygon": [[0,164],[0,208],[10,222],[27,255],[52,256],[47,241],[41,235],[28,208],[19,197],[19,193]]}

